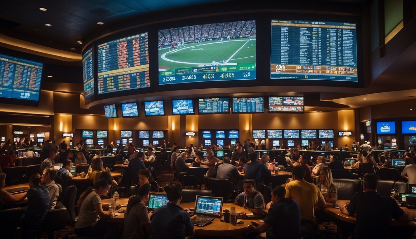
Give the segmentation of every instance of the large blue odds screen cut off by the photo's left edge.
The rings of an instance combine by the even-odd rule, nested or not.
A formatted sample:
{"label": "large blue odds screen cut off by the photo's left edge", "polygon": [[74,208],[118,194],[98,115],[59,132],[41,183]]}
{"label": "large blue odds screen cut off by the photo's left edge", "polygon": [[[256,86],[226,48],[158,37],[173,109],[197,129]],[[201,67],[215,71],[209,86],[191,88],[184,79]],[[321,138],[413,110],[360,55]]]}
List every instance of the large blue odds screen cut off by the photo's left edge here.
{"label": "large blue odds screen cut off by the photo's left edge", "polygon": [[43,64],[0,54],[0,97],[39,100]]}

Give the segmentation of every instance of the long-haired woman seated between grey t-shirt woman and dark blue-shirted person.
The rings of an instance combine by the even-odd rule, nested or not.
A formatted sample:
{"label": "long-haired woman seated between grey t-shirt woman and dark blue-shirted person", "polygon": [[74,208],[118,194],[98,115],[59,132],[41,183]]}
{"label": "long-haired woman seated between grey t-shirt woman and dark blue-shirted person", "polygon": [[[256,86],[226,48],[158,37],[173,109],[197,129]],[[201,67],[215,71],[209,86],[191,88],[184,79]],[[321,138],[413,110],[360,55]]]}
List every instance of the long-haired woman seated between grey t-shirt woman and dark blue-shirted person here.
{"label": "long-haired woman seated between grey t-shirt woman and dark blue-shirted person", "polygon": [[[147,201],[149,201],[150,186],[142,185],[138,195],[129,198],[126,212],[124,212],[124,239],[144,239],[145,235],[151,238],[152,227],[150,224]],[[145,232],[145,233],[144,233]]]}

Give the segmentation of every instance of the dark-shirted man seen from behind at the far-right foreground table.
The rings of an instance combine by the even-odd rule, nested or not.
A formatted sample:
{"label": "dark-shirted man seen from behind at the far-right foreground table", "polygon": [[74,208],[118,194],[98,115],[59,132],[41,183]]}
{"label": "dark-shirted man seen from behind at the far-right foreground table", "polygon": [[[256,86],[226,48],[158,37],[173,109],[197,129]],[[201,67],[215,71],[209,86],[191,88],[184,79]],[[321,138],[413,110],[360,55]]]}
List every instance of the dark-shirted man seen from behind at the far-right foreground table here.
{"label": "dark-shirted man seen from behind at the far-right foreground table", "polygon": [[389,197],[377,193],[379,178],[375,173],[366,173],[363,179],[364,192],[355,193],[339,210],[347,215],[355,214],[353,238],[389,238],[391,219],[407,221],[409,216]]}

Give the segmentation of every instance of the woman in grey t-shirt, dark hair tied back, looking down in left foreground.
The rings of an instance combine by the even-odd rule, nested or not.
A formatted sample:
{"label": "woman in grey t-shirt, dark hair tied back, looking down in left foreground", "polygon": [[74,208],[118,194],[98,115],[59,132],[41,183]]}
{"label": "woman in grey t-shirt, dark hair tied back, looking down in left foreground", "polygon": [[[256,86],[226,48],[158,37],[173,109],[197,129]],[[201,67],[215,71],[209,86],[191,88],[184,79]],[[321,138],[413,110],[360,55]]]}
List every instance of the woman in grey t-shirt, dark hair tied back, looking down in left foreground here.
{"label": "woman in grey t-shirt, dark hair tied back, looking down in left foreground", "polygon": [[105,179],[100,179],[94,187],[89,187],[79,196],[78,208],[79,215],[75,223],[75,234],[78,237],[102,237],[107,234],[107,238],[119,238],[114,224],[106,222],[104,219],[114,217],[108,212],[103,211],[103,206],[108,203],[101,203],[100,196],[106,196],[111,185]]}

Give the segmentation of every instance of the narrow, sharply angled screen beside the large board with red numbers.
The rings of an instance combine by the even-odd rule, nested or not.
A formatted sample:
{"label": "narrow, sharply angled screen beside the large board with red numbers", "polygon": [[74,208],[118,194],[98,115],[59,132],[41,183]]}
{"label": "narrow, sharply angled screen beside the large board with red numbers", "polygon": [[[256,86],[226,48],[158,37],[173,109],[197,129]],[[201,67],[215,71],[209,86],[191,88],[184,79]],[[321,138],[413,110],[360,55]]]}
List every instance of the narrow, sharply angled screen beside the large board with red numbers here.
{"label": "narrow, sharply angled screen beside the large board with red numbers", "polygon": [[94,56],[89,48],[82,56],[82,79],[84,82],[84,98],[94,95]]}

